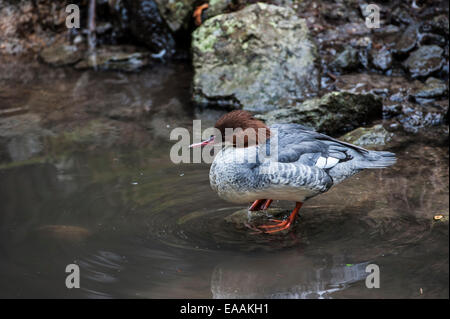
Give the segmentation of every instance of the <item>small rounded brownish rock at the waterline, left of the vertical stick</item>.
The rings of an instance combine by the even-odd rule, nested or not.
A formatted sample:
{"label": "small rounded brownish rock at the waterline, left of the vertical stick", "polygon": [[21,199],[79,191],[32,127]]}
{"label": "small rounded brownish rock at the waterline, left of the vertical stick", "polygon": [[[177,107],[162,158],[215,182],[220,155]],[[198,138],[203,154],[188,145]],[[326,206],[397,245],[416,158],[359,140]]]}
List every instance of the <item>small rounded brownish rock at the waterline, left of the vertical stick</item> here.
{"label": "small rounded brownish rock at the waterline, left of the vertical stick", "polygon": [[76,45],[55,43],[41,51],[40,58],[47,64],[63,66],[75,64],[83,58],[82,50]]}

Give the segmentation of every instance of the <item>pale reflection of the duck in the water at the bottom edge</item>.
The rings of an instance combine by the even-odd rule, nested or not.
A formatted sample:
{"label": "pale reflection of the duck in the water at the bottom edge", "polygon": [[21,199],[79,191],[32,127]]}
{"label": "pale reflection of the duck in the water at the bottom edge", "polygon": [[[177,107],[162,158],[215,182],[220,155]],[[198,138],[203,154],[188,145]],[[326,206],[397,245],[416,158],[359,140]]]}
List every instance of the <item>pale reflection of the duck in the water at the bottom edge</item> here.
{"label": "pale reflection of the duck in the water at the bottom edge", "polygon": [[290,254],[259,259],[217,266],[211,279],[213,297],[328,298],[367,276],[367,262],[333,265]]}

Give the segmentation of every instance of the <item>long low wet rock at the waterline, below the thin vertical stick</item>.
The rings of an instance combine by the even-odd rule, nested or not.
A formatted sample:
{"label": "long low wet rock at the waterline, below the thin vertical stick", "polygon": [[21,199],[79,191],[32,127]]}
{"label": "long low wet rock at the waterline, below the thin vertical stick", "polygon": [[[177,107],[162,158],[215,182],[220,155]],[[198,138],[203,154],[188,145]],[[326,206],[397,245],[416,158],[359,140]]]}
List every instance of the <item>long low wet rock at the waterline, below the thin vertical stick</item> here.
{"label": "long low wet rock at the waterline, below the thin vertical stick", "polygon": [[130,45],[99,47],[95,55],[86,56],[75,65],[76,69],[135,71],[149,63],[149,54]]}

